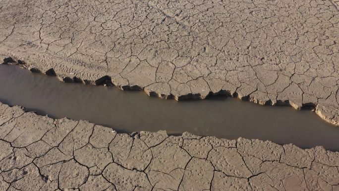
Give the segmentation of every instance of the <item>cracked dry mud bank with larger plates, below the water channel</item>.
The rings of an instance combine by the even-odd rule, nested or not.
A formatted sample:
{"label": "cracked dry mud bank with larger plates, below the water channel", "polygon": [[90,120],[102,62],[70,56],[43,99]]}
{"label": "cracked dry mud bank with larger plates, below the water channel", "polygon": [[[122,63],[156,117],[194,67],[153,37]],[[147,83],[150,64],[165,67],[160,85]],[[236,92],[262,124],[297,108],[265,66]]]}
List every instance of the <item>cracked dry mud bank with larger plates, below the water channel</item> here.
{"label": "cracked dry mud bank with larger plates, below the water channel", "polygon": [[339,191],[339,152],[120,134],[0,103],[0,191]]}

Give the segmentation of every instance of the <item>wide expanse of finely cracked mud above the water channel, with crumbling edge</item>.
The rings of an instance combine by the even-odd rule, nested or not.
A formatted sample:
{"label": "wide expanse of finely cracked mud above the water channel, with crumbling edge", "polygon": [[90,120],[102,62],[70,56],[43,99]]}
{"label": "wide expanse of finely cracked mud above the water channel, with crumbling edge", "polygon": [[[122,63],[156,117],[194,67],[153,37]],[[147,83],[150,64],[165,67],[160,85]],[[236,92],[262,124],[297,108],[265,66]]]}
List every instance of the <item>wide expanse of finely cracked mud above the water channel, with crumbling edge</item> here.
{"label": "wide expanse of finely cracked mud above the water channel, with crumbling edge", "polygon": [[313,106],[339,125],[338,3],[2,0],[0,55],[63,81],[162,98]]}

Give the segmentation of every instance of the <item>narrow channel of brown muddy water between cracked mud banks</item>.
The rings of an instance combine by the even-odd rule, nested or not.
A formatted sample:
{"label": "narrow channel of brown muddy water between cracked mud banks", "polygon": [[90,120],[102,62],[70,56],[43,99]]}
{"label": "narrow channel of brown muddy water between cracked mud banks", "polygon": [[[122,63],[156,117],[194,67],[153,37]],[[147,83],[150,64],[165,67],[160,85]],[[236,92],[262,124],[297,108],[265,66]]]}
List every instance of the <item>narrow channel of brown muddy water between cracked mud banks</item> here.
{"label": "narrow channel of brown muddy water between cracked mud banks", "polygon": [[0,64],[0,101],[52,118],[88,120],[118,132],[167,130],[236,139],[258,138],[339,151],[339,127],[309,110],[260,106],[237,98],[175,101],[141,91],[62,83],[56,77]]}

